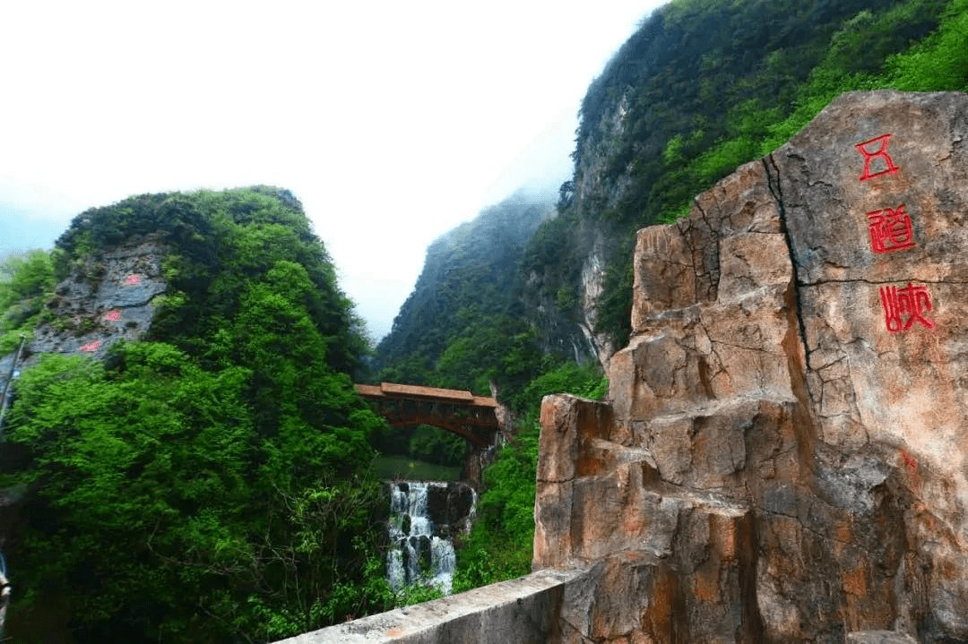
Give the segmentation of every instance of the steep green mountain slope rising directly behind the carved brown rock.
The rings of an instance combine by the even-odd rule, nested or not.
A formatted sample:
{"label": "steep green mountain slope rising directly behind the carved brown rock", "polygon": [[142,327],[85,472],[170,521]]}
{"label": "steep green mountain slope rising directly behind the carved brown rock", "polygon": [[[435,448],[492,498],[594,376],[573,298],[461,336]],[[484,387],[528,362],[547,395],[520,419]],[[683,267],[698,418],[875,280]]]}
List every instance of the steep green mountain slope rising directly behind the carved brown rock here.
{"label": "steep green mountain slope rising directly behind the carved brown rock", "polygon": [[[542,329],[582,314],[581,272],[603,266],[586,321],[621,346],[636,229],[685,214],[692,197],[770,152],[851,89],[964,90],[963,0],[674,0],[590,85],[560,217],[535,235],[531,298]],[[577,261],[576,261],[577,260]],[[590,309],[590,312],[589,312]]]}

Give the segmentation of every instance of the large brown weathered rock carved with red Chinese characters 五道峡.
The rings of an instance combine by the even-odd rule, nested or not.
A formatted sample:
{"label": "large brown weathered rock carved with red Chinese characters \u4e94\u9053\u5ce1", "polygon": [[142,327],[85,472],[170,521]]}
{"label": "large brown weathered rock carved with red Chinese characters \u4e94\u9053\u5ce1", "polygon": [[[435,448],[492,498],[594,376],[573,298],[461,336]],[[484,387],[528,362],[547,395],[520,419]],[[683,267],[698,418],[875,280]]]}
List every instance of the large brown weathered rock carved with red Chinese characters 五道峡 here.
{"label": "large brown weathered rock carved with red Chinese characters \u4e94\u9053\u5ce1", "polygon": [[844,95],[639,233],[610,402],[542,408],[563,641],[968,641],[966,135]]}

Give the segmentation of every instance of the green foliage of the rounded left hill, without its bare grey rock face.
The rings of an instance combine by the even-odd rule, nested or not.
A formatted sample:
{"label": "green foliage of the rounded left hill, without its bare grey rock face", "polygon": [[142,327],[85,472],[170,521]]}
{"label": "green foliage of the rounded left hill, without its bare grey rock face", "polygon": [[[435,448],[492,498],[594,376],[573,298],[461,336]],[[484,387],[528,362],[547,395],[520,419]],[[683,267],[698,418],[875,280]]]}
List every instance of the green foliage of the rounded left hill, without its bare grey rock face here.
{"label": "green foliage of the rounded left hill, without its bare grey rock face", "polygon": [[3,477],[26,486],[27,525],[5,547],[4,634],[265,641],[387,607],[367,474],[383,422],[352,387],[364,341],[299,202],[132,197],[79,215],[52,266],[93,284],[144,234],[168,249],[149,336],[43,356],[16,383],[5,451],[24,457]]}

